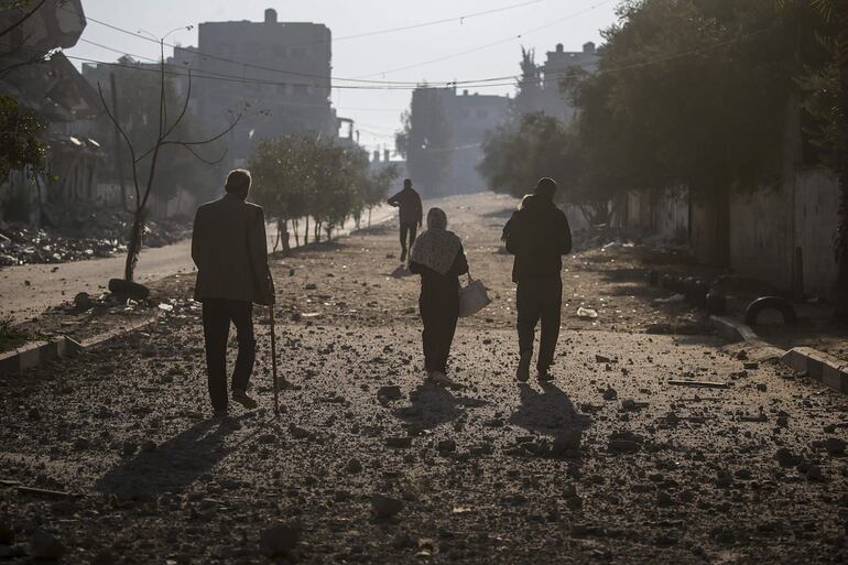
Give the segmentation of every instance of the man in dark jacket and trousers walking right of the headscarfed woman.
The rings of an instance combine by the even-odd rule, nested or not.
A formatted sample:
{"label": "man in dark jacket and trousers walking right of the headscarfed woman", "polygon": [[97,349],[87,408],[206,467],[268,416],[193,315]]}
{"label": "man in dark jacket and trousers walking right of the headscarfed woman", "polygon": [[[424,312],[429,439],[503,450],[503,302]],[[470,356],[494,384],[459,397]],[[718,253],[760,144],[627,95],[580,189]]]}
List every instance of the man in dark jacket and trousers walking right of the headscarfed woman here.
{"label": "man in dark jacket and trousers walking right of the headscarfed woman", "polygon": [[559,311],[563,303],[562,256],[572,252],[572,229],[565,214],[554,204],[556,183],[542,178],[534,194],[521,200],[503,227],[507,251],[515,256],[512,281],[518,283],[519,368],[515,378],[530,379],[536,324],[542,320],[536,369],[540,381],[553,379]]}

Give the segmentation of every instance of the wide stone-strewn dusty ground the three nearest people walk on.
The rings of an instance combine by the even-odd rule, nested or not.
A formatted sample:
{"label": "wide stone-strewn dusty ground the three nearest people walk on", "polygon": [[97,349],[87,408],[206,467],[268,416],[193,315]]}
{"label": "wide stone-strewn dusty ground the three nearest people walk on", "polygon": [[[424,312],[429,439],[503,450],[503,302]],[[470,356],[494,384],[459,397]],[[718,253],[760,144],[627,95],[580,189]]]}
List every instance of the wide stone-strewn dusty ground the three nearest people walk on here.
{"label": "wide stone-strewn dusty ground the three nearest people walk on", "polygon": [[[514,382],[498,245],[513,205],[443,203],[496,296],[460,320],[456,389],[423,383],[417,281],[387,257],[393,227],[274,259],[291,383],[279,420],[261,324],[260,409],[208,420],[191,304],[2,378],[0,478],[81,497],[1,488],[0,554],[57,542],[64,562],[99,564],[845,563],[846,398],[714,337],[645,333],[691,313],[655,308],[623,252],[566,261],[556,380]],[[576,319],[580,304],[599,319]]]}

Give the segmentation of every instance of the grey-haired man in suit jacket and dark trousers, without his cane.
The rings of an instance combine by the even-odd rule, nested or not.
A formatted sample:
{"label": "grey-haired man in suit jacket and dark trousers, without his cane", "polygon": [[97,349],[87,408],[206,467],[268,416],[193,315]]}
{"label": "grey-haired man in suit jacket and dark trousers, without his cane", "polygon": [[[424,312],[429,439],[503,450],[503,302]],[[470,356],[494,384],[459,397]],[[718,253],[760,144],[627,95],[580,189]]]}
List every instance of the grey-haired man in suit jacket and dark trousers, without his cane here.
{"label": "grey-haired man in suit jacket and dark trousers, without his cane", "polygon": [[247,409],[256,361],[253,303],[274,304],[274,283],[268,268],[265,218],[261,206],[244,202],[250,173],[230,172],[226,194],[197,209],[192,236],[192,259],[197,265],[194,298],[203,303],[206,368],[216,416],[227,414],[227,338],[236,326],[239,355],[232,372],[232,400]]}

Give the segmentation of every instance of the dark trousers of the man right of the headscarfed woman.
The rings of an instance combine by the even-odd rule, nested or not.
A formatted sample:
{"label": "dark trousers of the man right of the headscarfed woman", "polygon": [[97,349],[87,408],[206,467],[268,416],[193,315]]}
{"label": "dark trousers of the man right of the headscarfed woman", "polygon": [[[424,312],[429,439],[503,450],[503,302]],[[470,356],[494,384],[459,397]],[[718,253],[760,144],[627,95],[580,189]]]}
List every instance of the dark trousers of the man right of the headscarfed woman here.
{"label": "dark trousers of the man right of the headscarfed woman", "polygon": [[542,338],[536,368],[547,370],[554,363],[556,340],[559,338],[559,313],[563,306],[562,279],[556,276],[520,281],[517,306],[519,350],[521,355],[533,352],[536,324],[541,319]]}

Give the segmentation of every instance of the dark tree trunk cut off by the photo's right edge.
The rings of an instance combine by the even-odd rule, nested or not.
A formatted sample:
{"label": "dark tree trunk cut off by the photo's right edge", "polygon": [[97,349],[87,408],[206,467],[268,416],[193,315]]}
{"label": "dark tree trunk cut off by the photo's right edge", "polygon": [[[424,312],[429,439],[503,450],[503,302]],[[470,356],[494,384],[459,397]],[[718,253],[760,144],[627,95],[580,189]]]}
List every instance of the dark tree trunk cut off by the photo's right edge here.
{"label": "dark tree trunk cut off by the photo's right edge", "polygon": [[848,323],[848,2],[834,2],[836,22],[836,68],[839,75],[839,135],[836,140],[836,177],[839,182],[838,227],[836,231],[836,260],[838,270],[834,298],[834,318]]}

